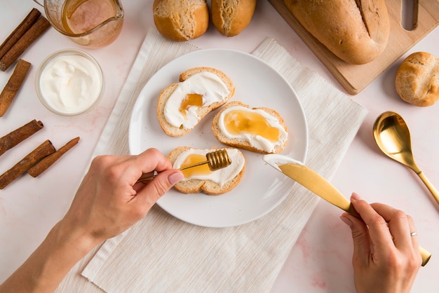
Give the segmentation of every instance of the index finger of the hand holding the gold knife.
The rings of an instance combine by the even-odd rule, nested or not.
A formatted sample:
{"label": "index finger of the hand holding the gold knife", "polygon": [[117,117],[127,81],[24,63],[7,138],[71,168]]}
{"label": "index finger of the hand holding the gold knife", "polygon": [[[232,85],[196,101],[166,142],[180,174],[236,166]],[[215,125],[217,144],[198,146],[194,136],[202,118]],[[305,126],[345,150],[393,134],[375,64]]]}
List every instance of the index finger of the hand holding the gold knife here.
{"label": "index finger of the hand holding the gold knife", "polygon": [[351,203],[360,214],[365,224],[369,227],[370,240],[378,249],[393,247],[393,240],[386,220],[374,208],[362,200],[358,194],[353,193]]}

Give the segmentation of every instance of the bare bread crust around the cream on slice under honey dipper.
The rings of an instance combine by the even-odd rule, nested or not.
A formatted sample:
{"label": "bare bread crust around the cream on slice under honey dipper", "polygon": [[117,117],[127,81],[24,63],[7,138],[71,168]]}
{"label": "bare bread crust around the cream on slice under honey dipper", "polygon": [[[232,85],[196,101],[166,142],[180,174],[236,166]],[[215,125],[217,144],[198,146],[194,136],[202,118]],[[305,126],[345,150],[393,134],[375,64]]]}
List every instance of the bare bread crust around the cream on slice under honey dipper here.
{"label": "bare bread crust around the cream on slice under honey dipper", "polygon": [[[170,161],[170,163],[174,164],[177,157],[180,156],[180,154],[182,154],[183,151],[186,151],[188,149],[191,149],[191,148],[177,147],[176,149],[174,149],[173,151],[170,152],[170,154],[168,155],[168,160]],[[212,148],[212,149],[208,149],[206,151],[210,152],[210,151],[215,151],[216,149],[217,148]],[[231,149],[231,148],[221,148],[221,149]],[[241,153],[241,151],[238,151],[238,154],[241,154],[241,156],[245,162],[245,157]],[[245,163],[243,165],[241,172],[239,172],[238,175],[236,175],[234,177],[234,179],[231,179],[229,182],[226,182],[222,186],[219,185],[218,183],[212,182],[210,180],[189,179],[189,180],[183,180],[183,181],[178,182],[177,184],[174,185],[174,187],[175,187],[175,189],[177,189],[177,191],[180,191],[182,193],[201,193],[201,192],[203,192],[203,193],[208,194],[210,196],[217,196],[217,195],[220,195],[222,193],[226,193],[226,192],[234,189],[239,184],[239,182],[241,182],[241,179],[243,178],[244,170],[245,170]]]}

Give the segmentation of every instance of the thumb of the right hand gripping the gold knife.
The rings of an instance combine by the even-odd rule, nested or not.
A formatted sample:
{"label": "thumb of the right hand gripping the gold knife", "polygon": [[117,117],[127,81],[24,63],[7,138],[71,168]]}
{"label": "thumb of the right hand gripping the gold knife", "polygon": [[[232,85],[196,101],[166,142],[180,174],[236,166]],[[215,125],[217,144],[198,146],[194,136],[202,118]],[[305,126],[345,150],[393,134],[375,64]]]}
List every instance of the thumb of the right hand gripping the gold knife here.
{"label": "thumb of the right hand gripping the gold knife", "polygon": [[340,217],[340,219],[342,219],[342,221],[351,228],[353,240],[353,257],[358,260],[367,261],[367,259],[369,259],[371,251],[369,231],[366,224],[362,220],[353,217],[347,212],[342,214],[342,217]]}

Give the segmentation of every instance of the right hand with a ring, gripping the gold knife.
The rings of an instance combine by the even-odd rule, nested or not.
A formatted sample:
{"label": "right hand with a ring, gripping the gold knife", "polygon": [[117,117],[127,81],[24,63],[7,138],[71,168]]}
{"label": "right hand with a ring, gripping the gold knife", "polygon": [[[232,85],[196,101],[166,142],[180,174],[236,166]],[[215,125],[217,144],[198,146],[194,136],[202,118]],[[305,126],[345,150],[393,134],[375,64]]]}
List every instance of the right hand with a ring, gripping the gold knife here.
{"label": "right hand with a ring, gripping the gold knife", "polygon": [[342,214],[353,238],[353,275],[357,292],[410,292],[421,267],[412,217],[389,205],[369,205],[353,193],[351,203],[361,219]]}

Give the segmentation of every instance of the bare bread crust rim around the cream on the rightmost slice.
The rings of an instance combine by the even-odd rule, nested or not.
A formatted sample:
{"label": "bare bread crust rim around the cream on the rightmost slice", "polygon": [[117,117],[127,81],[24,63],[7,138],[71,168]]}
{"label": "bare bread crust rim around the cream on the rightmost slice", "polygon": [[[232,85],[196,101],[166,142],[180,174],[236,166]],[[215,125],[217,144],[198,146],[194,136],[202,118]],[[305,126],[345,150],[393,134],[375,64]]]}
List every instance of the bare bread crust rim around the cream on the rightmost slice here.
{"label": "bare bread crust rim around the cream on the rightmost slice", "polygon": [[[215,135],[215,137],[217,137],[219,142],[222,142],[223,144],[227,144],[231,147],[238,147],[240,149],[246,149],[248,151],[254,151],[254,152],[260,153],[260,154],[278,154],[281,151],[283,151],[283,149],[285,149],[285,147],[287,146],[286,139],[285,139],[285,142],[283,144],[278,144],[276,147],[274,147],[273,151],[269,152],[269,151],[264,151],[263,149],[258,149],[258,148],[252,147],[250,145],[250,142],[247,142],[245,140],[231,139],[229,137],[226,137],[224,135],[224,133],[222,133],[221,129],[219,128],[219,117],[221,116],[221,114],[224,110],[228,109],[229,107],[234,107],[234,106],[242,106],[242,107],[246,107],[246,108],[250,109],[250,106],[248,104],[243,104],[242,102],[234,101],[234,102],[227,103],[224,106],[224,108],[222,108],[221,111],[219,111],[215,115],[215,117],[213,118],[213,121],[212,121],[212,132],[213,132],[213,135]],[[265,111],[267,114],[270,114],[271,116],[277,118],[278,122],[281,124],[281,126],[283,127],[285,132],[287,132],[287,134],[288,134],[288,128],[285,125],[285,121],[283,120],[282,116],[280,114],[278,114],[277,111],[275,111],[273,109],[266,108],[266,107],[259,107],[259,108],[252,108],[252,109],[261,109],[261,110]]]}

